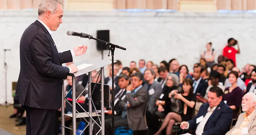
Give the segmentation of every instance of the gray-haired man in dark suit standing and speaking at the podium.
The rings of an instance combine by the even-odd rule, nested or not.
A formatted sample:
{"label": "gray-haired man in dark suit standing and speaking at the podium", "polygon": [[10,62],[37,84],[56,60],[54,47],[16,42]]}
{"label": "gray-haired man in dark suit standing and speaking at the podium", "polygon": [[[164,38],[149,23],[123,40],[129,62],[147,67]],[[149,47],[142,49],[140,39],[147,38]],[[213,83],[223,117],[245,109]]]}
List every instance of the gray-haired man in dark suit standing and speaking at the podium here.
{"label": "gray-haired man in dark suit standing and speaking at the podium", "polygon": [[53,135],[56,110],[61,108],[63,79],[78,69],[62,63],[86,52],[87,46],[58,53],[52,39],[62,23],[63,9],[58,0],[42,0],[38,19],[28,26],[20,40],[20,74],[15,100],[27,112],[27,135]]}

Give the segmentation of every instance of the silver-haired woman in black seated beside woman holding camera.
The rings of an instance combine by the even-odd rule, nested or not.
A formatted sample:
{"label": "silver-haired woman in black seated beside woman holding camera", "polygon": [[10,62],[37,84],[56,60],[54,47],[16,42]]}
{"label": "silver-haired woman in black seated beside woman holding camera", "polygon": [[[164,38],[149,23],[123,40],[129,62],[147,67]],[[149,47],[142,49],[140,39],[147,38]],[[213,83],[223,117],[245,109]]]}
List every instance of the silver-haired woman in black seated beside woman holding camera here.
{"label": "silver-haired woman in black seated beside woman holding camera", "polygon": [[[175,74],[169,74],[167,76],[166,84],[163,87],[163,92],[160,95],[160,99],[156,101],[157,110],[155,110],[152,117],[149,119],[149,129],[152,129],[153,132],[157,132],[159,129],[158,119],[164,118],[168,112],[181,110],[181,102],[175,102],[176,99],[171,100],[169,98],[169,93],[180,93],[181,87],[179,85],[179,77]],[[172,105],[172,106],[171,106]]]}

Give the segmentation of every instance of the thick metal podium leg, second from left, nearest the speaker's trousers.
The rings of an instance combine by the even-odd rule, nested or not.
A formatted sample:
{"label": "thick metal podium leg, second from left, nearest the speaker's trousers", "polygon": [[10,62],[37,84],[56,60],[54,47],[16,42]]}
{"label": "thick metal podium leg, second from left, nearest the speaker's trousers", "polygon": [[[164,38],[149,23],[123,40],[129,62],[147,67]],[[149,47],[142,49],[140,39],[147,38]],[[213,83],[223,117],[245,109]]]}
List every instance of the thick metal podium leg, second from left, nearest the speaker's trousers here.
{"label": "thick metal podium leg, second from left, nearest the speaker's trousers", "polygon": [[[75,78],[72,76],[72,115],[73,115],[73,135],[76,135],[76,97],[75,97]],[[65,121],[64,121],[65,122]]]}

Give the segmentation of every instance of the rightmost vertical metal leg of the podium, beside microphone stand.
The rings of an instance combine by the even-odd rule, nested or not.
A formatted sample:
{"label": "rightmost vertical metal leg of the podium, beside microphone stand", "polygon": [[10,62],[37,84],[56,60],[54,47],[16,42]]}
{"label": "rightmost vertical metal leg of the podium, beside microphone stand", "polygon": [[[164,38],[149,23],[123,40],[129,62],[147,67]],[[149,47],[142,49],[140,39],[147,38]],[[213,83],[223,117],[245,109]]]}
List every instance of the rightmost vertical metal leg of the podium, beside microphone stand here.
{"label": "rightmost vertical metal leg of the podium, beside microphone stand", "polygon": [[100,85],[101,85],[101,135],[105,135],[105,106],[104,106],[104,67],[101,67],[100,74]]}

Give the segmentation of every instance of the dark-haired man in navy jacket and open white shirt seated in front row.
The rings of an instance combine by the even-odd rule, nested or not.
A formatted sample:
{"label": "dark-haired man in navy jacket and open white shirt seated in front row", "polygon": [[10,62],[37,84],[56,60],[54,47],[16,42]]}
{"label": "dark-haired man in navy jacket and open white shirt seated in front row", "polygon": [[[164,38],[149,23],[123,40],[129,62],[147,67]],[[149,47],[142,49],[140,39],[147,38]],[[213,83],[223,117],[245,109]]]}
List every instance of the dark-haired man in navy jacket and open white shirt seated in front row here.
{"label": "dark-haired man in navy jacket and open white shirt seated in front row", "polygon": [[181,129],[192,130],[194,135],[224,135],[230,128],[232,109],[222,101],[223,91],[212,87],[208,103],[204,103],[198,114],[189,121],[181,122]]}

